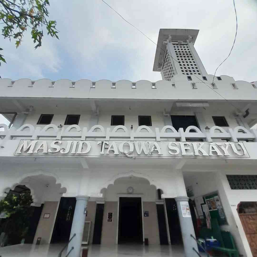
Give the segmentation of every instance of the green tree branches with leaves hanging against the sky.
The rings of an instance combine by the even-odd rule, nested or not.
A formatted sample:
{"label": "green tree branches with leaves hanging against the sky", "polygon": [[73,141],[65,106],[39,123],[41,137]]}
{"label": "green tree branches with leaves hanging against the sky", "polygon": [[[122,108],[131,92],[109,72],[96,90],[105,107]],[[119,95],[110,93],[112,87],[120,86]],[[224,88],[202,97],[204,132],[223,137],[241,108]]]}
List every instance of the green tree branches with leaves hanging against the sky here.
{"label": "green tree branches with leaves hanging against the sky", "polygon": [[[42,44],[43,28],[47,30],[48,35],[59,39],[56,21],[48,20],[49,6],[49,0],[0,0],[2,35],[10,41],[13,38],[16,48],[21,44],[27,29],[31,31],[35,49]],[[2,50],[0,48],[0,51]],[[6,63],[6,60],[0,53],[0,66],[1,62]]]}

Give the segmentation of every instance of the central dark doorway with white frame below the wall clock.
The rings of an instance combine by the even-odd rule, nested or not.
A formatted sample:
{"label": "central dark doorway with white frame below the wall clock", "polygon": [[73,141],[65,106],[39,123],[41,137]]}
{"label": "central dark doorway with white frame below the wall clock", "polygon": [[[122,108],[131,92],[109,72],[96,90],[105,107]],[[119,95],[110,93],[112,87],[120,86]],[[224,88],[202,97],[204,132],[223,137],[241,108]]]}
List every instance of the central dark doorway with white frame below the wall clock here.
{"label": "central dark doorway with white frame below the wall clock", "polygon": [[118,244],[143,243],[140,197],[120,197]]}

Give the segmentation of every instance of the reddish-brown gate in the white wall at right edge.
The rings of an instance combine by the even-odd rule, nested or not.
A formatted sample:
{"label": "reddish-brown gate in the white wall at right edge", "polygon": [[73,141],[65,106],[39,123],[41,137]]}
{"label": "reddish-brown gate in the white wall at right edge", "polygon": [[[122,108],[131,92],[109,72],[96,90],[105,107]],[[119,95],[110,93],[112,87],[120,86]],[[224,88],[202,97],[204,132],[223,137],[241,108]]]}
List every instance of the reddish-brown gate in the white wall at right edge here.
{"label": "reddish-brown gate in the white wall at right edge", "polygon": [[257,257],[257,202],[241,202],[237,212],[253,257]]}

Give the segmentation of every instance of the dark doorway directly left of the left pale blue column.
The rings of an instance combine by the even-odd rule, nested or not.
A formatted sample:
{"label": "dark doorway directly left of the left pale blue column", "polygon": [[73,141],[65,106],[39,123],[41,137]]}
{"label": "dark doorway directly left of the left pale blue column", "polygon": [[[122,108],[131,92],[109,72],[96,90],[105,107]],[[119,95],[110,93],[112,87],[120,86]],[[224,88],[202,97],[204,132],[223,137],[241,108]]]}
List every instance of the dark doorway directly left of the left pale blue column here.
{"label": "dark doorway directly left of the left pale blue column", "polygon": [[51,243],[69,241],[75,205],[75,197],[61,197]]}

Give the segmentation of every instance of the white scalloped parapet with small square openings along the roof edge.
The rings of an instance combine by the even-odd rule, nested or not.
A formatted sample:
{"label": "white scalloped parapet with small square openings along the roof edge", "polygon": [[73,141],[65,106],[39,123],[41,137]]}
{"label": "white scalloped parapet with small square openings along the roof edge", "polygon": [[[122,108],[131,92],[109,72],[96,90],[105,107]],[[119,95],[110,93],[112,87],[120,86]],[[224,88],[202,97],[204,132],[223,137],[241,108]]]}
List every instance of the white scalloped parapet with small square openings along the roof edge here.
{"label": "white scalloped parapet with small square openings along the roof edge", "polygon": [[[188,80],[187,76],[176,75],[172,81],[158,80],[156,82],[148,80],[115,82],[106,79],[98,81],[1,79],[0,90],[1,97],[257,100],[257,81],[235,81],[234,78],[226,75],[192,76],[191,78],[192,80]],[[212,89],[212,81],[215,83],[215,89]],[[197,90],[191,85],[196,82],[201,82],[197,83]]]}

